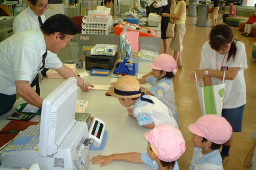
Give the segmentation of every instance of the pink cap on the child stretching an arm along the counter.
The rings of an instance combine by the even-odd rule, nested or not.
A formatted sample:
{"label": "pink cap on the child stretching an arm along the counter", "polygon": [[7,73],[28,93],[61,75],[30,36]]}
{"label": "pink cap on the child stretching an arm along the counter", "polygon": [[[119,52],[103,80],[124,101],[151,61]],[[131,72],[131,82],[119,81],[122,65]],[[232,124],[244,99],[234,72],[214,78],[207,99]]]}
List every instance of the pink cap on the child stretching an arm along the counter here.
{"label": "pink cap on the child stretching an arm along the counter", "polygon": [[158,158],[164,161],[177,160],[186,150],[181,131],[169,124],[155,126],[144,137],[153,145]]}

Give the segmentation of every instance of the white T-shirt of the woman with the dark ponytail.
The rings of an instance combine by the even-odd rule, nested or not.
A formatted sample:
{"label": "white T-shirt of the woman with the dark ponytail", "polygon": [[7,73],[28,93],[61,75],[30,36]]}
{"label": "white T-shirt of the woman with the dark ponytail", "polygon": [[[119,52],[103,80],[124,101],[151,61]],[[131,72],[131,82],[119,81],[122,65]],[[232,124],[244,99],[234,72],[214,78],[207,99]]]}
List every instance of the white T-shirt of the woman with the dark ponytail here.
{"label": "white T-shirt of the woman with the dark ponytail", "polygon": [[[246,103],[246,86],[243,75],[243,70],[247,68],[245,46],[241,41],[236,41],[235,44],[237,48],[235,59],[233,60],[233,56],[231,56],[228,62],[228,53],[223,55],[217,53],[211,48],[209,42],[205,42],[201,52],[200,69],[224,70],[231,67],[240,67],[233,80],[225,80],[223,108],[236,108]],[[218,78],[212,77],[212,84],[216,84],[218,81]]]}

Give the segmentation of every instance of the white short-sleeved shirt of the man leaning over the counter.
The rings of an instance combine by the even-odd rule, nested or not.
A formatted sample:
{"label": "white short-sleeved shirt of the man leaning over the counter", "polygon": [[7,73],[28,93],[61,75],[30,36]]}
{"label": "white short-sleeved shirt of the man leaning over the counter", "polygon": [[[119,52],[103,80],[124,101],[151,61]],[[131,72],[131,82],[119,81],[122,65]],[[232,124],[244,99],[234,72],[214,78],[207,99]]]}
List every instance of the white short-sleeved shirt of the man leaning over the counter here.
{"label": "white short-sleeved shirt of the man leaning over the counter", "polygon": [[[0,93],[15,94],[17,80],[31,83],[43,65],[45,51],[40,29],[19,32],[0,42]],[[61,66],[57,55],[47,55],[45,67],[58,69]]]}

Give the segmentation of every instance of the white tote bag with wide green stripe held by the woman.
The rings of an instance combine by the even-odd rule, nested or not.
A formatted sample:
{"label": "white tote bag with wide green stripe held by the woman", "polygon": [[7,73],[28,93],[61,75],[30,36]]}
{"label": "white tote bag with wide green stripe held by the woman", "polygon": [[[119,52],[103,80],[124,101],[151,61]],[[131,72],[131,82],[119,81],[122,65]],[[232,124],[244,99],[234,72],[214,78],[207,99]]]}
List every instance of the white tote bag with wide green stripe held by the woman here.
{"label": "white tote bag with wide green stripe held by the woman", "polygon": [[222,83],[204,86],[203,80],[197,82],[196,73],[196,90],[201,108],[201,114],[222,114],[223,98],[225,91],[225,73],[223,74]]}

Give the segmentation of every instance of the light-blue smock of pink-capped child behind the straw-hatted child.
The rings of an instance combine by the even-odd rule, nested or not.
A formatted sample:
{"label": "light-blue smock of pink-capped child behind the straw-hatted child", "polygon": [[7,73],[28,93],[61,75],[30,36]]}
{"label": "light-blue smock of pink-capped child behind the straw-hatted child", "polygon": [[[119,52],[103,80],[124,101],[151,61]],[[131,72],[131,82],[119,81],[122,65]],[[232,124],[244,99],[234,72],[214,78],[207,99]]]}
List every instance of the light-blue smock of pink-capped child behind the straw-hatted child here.
{"label": "light-blue smock of pink-capped child behind the straw-hatted child", "polygon": [[[146,81],[153,85],[150,92],[171,109],[171,113],[177,114],[173,79],[164,77],[158,81],[154,75],[148,76]],[[174,116],[175,117],[175,116]],[[177,120],[176,120],[177,121]],[[177,121],[178,122],[178,121]]]}

